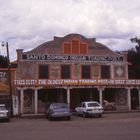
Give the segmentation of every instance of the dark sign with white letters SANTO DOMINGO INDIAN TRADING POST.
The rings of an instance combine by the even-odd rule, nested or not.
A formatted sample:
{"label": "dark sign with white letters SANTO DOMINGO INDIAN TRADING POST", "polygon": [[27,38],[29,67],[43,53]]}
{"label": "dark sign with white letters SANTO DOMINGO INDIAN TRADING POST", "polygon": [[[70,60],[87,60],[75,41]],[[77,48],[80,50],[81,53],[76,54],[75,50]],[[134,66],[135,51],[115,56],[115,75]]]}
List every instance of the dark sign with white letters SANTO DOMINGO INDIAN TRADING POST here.
{"label": "dark sign with white letters SANTO DOMINGO INDIAN TRADING POST", "polygon": [[85,61],[85,62],[122,62],[123,56],[109,55],[55,55],[55,54],[23,54],[22,60],[26,61]]}

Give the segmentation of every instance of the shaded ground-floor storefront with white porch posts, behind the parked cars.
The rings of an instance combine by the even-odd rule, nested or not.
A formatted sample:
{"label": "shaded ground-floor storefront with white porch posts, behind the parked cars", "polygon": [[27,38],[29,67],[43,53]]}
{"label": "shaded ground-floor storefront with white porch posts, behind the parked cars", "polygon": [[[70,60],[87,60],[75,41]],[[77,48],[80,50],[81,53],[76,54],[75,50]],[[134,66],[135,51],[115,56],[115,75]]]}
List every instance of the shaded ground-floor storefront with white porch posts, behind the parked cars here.
{"label": "shaded ground-floor storefront with white porch posts, behind the parked cars", "polygon": [[[52,89],[19,89],[21,113],[43,113],[48,103],[65,102],[74,110],[82,101],[104,101],[114,103],[106,110],[139,109],[140,90],[130,88],[92,88],[92,87],[64,87]],[[134,93],[135,91],[135,93]],[[135,100],[134,100],[135,99]],[[23,102],[23,103],[22,103]]]}

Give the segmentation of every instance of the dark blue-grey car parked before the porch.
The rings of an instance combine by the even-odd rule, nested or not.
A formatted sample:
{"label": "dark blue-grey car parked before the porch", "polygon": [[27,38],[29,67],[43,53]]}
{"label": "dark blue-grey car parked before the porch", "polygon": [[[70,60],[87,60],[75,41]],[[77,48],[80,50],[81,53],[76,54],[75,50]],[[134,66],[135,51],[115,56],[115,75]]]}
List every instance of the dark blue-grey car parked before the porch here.
{"label": "dark blue-grey car parked before the porch", "polygon": [[46,107],[45,115],[49,120],[53,118],[71,119],[71,111],[66,103],[51,103]]}

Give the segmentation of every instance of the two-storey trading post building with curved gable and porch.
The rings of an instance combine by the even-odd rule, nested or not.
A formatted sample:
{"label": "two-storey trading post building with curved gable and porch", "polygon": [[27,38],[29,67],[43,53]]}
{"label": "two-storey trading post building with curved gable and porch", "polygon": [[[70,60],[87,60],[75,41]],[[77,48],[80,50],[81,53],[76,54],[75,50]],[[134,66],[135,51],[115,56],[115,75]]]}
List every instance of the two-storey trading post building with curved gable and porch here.
{"label": "two-storey trading post building with curved gable and porch", "polygon": [[[139,108],[140,80],[128,78],[127,53],[114,52],[80,34],[54,37],[31,51],[17,50],[14,87],[19,113],[42,113],[50,102],[74,109],[82,101]],[[133,105],[135,97],[137,105]]]}

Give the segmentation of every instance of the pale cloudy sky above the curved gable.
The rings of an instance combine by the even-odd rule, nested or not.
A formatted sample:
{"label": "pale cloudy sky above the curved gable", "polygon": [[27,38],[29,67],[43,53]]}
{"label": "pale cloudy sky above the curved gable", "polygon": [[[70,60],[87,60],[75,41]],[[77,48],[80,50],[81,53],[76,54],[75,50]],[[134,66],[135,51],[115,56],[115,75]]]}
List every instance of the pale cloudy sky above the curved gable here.
{"label": "pale cloudy sky above the curved gable", "polygon": [[[0,0],[0,43],[8,42],[11,61],[16,49],[70,33],[128,50],[135,46],[130,38],[140,36],[140,0]],[[4,47],[0,54],[6,55]]]}

